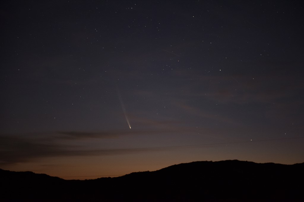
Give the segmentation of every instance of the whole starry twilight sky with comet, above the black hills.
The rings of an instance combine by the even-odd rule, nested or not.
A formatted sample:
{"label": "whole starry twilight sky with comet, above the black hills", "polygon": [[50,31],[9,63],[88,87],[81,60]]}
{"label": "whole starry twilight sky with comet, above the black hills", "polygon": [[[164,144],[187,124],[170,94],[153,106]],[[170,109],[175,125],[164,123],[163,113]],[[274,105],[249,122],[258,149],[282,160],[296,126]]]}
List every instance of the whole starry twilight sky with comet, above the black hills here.
{"label": "whole starry twilight sky with comet, above the black hills", "polygon": [[304,162],[302,1],[7,1],[0,13],[2,169],[90,179]]}

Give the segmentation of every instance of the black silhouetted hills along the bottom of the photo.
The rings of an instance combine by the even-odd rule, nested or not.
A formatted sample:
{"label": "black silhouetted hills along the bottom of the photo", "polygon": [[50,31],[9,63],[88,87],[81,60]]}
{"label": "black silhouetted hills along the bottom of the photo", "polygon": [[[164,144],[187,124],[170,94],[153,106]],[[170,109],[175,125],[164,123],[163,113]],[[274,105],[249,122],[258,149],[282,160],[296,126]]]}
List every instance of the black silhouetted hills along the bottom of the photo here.
{"label": "black silhouetted hills along the bottom of the photo", "polygon": [[63,180],[0,169],[1,201],[304,201],[304,163],[198,161],[153,172]]}

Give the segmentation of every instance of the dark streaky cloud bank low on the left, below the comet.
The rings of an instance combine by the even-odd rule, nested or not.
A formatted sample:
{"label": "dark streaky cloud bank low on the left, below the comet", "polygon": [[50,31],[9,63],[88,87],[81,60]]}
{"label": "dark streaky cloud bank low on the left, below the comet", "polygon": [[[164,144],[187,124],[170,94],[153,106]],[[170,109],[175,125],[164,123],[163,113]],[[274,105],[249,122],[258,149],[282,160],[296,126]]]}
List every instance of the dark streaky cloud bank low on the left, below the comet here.
{"label": "dark streaky cloud bank low on the left, below the comet", "polygon": [[[167,130],[167,132],[172,132]],[[63,157],[63,156],[95,156],[115,155],[133,152],[142,152],[147,148],[114,148],[114,149],[89,149],[87,146],[77,142],[90,141],[94,139],[112,139],[126,135],[147,135],[153,133],[165,133],[159,130],[133,130],[133,131],[111,131],[111,132],[76,132],[60,131],[44,134],[14,134],[0,135],[0,166],[21,162],[31,162],[37,158]],[[64,142],[62,141],[64,140]],[[76,143],[76,144],[75,144]],[[155,148],[157,149],[157,148]]]}

